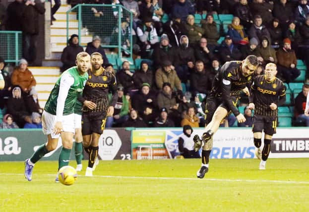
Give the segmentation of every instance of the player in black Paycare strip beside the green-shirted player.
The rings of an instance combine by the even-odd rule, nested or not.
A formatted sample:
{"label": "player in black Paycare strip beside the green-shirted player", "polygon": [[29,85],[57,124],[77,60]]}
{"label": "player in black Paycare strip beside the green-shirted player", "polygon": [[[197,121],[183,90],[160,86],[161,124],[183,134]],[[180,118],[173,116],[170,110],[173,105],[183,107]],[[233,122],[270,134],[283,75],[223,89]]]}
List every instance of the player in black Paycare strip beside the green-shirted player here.
{"label": "player in black Paycare strip beside the green-shirted player", "polygon": [[[114,74],[102,68],[103,58],[98,52],[91,54],[91,71],[83,90],[78,98],[83,103],[82,135],[83,146],[89,154],[86,176],[92,176],[92,171],[99,162],[99,138],[103,133],[107,115],[114,114],[114,106],[118,99],[117,83]],[[113,98],[108,102],[108,92]]]}

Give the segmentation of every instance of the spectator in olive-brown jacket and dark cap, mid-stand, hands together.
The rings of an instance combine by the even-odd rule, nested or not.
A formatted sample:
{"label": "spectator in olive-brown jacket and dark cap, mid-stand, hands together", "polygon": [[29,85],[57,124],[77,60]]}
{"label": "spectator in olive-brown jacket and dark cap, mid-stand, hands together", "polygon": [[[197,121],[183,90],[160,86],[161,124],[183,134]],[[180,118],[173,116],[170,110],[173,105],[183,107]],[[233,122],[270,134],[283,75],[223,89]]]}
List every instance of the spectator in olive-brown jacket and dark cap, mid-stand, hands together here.
{"label": "spectator in olive-brown jacket and dark cap, mid-stand, hands together", "polygon": [[183,90],[181,81],[176,71],[174,70],[172,63],[168,60],[163,61],[162,68],[159,68],[156,71],[155,80],[159,89],[162,89],[163,84],[167,82],[170,84],[172,90],[175,88],[177,90]]}

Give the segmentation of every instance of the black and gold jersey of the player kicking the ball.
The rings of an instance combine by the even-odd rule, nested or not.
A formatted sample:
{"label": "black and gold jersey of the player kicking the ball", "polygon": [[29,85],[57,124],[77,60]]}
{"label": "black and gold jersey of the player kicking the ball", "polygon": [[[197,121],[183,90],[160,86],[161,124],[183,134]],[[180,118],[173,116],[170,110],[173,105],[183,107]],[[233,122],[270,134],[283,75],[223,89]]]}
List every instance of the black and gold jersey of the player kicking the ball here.
{"label": "black and gold jersey of the player kicking the ball", "polygon": [[231,96],[239,96],[240,92],[252,81],[251,75],[247,77],[243,76],[242,65],[242,61],[225,63],[216,74],[210,92],[213,96],[221,96],[225,105],[235,116],[239,115],[239,111]]}

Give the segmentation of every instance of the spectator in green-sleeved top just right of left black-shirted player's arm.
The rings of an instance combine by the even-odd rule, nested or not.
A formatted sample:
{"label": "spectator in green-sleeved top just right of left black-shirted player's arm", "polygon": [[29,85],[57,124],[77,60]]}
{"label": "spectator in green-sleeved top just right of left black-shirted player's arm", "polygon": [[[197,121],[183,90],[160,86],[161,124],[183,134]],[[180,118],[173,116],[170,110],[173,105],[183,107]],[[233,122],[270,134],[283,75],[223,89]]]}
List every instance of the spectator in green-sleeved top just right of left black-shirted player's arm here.
{"label": "spectator in green-sleeved top just right of left black-shirted player's arm", "polygon": [[124,87],[118,84],[117,88],[118,100],[114,107],[114,115],[108,116],[106,119],[106,128],[111,128],[113,123],[122,125],[128,119],[129,103],[124,96]]}

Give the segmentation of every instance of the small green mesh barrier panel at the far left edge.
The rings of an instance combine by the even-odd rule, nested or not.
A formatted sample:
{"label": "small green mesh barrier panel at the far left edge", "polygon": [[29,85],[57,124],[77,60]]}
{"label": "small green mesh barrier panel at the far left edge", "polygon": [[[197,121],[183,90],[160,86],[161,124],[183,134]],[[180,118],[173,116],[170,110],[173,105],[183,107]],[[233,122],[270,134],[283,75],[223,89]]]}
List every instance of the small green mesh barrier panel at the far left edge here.
{"label": "small green mesh barrier panel at the far left edge", "polygon": [[0,31],[0,56],[6,63],[18,64],[21,59],[21,31]]}

